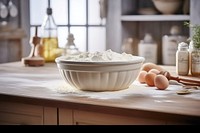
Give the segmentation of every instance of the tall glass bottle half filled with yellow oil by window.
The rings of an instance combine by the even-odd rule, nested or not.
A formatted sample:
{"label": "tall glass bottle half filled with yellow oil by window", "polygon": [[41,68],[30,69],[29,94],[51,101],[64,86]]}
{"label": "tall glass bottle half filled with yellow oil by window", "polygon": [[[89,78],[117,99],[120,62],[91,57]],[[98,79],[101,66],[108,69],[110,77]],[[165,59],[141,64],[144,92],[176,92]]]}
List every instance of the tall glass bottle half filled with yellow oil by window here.
{"label": "tall glass bottle half filled with yellow oil by window", "polygon": [[46,10],[46,16],[42,23],[41,44],[43,45],[43,56],[46,62],[54,62],[58,57],[57,25],[52,16],[50,1]]}

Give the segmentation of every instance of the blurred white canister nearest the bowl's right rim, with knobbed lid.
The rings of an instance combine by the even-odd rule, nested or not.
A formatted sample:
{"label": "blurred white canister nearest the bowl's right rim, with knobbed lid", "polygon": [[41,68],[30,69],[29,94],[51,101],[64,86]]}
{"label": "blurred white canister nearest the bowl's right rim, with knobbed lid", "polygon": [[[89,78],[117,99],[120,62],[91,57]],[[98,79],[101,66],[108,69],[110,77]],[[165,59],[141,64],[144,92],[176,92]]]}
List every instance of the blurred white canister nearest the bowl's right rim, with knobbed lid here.
{"label": "blurred white canister nearest the bowl's right rim, with knobbed lid", "polygon": [[146,33],[144,40],[138,45],[138,55],[145,58],[145,62],[157,64],[157,44],[154,42],[151,34]]}

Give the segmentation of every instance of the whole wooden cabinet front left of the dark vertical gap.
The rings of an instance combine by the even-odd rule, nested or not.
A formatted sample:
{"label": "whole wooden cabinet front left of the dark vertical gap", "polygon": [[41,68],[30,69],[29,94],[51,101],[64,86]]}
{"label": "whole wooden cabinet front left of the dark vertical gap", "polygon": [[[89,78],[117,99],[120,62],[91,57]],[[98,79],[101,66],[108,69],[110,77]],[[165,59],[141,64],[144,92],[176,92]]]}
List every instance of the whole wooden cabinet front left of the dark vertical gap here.
{"label": "whole wooden cabinet front left of the dark vertical gap", "polygon": [[57,109],[17,102],[0,102],[1,125],[57,124]]}

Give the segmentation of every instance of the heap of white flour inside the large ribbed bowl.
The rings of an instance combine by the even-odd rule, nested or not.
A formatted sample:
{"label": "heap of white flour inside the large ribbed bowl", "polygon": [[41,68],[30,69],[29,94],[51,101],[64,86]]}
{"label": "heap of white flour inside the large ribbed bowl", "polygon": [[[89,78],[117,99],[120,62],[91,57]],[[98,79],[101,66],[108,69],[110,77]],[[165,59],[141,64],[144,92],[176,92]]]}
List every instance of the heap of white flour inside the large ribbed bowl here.
{"label": "heap of white flour inside the large ribbed bowl", "polygon": [[62,59],[67,61],[82,61],[82,62],[112,62],[112,61],[130,61],[135,60],[136,56],[126,53],[117,53],[112,50],[107,50],[103,52],[82,52],[76,55],[65,55]]}

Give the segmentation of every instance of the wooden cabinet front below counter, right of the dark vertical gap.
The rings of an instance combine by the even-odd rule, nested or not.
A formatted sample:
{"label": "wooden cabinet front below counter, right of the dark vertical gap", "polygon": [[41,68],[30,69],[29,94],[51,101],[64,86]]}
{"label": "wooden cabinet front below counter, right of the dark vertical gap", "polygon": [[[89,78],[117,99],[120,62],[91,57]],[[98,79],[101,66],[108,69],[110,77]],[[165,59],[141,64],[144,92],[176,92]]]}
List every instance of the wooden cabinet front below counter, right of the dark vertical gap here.
{"label": "wooden cabinet front below counter, right of the dark vertical gap", "polygon": [[131,114],[130,112],[125,114],[122,111],[116,114],[116,112],[105,110],[59,108],[59,125],[188,125],[198,122],[198,120],[186,117],[160,115],[159,112],[149,114],[143,111],[133,111]]}

